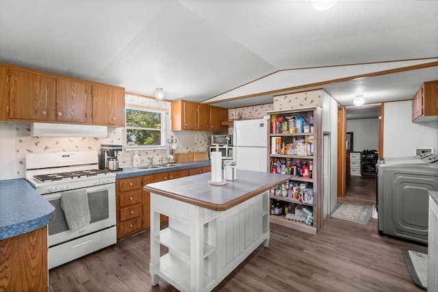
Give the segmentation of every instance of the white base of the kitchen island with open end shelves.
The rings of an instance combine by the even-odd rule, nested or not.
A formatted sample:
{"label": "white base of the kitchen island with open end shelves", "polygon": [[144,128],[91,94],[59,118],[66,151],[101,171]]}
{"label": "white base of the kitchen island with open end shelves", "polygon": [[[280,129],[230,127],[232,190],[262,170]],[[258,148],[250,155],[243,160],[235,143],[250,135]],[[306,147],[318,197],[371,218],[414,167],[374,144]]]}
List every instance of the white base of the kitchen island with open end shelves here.
{"label": "white base of the kitchen island with open end shelves", "polygon": [[[269,242],[269,196],[263,192],[227,211],[211,211],[151,194],[151,278],[180,291],[211,291],[263,243]],[[169,217],[159,230],[159,214]],[[159,255],[160,244],[168,253]]]}

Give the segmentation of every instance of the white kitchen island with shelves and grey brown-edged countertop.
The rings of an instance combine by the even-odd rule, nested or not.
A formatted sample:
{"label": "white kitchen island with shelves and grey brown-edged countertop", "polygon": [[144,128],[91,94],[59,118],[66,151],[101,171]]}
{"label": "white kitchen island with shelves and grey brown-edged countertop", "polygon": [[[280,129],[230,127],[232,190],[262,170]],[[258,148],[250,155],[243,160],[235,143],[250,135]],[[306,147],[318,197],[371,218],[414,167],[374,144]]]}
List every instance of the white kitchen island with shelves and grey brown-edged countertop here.
{"label": "white kitchen island with shelves and grey brown-edged countertop", "polygon": [[[159,278],[180,291],[211,291],[261,243],[268,247],[269,189],[289,175],[237,170],[226,185],[211,174],[151,183],[152,284]],[[169,217],[160,230],[159,215]],[[160,245],[168,253],[160,256]]]}

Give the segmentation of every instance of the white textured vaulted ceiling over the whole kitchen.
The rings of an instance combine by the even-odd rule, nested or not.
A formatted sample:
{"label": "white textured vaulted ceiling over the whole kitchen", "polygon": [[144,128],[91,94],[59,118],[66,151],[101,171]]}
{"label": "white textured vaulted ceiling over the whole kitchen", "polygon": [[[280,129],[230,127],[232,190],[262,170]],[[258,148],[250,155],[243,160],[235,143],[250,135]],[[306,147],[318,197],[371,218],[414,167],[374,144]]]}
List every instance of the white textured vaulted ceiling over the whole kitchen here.
{"label": "white textured vaulted ceiling over the whole kitchen", "polygon": [[[164,88],[169,100],[255,96],[217,103],[231,108],[312,88],[326,68],[348,77],[352,64],[436,62],[437,15],[438,1],[338,1],[321,12],[310,1],[1,0],[0,62],[149,96]],[[363,79],[361,90],[365,99],[380,92],[373,102],[412,98],[438,79],[436,65]],[[276,93],[261,94],[270,90],[263,77],[298,69],[309,78],[279,77]],[[358,82],[319,88],[351,105]]]}

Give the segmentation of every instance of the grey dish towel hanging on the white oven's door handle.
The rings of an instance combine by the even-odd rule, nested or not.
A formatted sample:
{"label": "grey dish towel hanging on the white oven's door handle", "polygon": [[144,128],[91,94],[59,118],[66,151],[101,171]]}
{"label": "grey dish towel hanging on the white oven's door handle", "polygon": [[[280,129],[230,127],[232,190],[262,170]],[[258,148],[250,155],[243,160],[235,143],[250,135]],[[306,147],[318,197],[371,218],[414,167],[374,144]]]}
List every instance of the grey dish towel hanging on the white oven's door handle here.
{"label": "grey dish towel hanging on the white oven's door handle", "polygon": [[77,230],[82,226],[90,224],[91,215],[86,189],[62,192],[61,208],[64,210],[70,230]]}

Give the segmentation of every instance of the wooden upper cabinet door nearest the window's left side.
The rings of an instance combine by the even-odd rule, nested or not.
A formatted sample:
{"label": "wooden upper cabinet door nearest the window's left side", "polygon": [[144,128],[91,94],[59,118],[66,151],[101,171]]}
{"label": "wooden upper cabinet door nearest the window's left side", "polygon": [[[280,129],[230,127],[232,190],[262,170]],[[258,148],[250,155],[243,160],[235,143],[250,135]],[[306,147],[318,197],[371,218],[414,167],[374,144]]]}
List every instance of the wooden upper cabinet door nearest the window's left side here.
{"label": "wooden upper cabinet door nearest the window's left side", "polygon": [[92,85],[92,122],[93,124],[117,124],[116,88]]}

